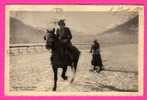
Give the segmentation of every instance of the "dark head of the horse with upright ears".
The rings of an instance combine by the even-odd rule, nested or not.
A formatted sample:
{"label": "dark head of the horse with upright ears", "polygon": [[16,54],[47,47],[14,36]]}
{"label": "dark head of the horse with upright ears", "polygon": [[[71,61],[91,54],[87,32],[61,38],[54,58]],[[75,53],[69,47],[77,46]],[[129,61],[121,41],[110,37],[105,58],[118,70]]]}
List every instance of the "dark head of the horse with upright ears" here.
{"label": "dark head of the horse with upright ears", "polygon": [[47,29],[47,35],[44,38],[46,40],[46,48],[50,49],[54,42],[56,41],[56,35],[55,35],[55,29],[48,30]]}

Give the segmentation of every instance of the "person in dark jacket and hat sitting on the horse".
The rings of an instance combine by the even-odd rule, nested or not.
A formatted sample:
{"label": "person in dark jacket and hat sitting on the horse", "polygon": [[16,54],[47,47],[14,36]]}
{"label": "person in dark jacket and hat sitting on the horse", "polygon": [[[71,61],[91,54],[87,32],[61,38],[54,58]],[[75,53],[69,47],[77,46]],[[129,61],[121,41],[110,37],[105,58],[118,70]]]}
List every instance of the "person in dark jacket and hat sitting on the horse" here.
{"label": "person in dark jacket and hat sitting on the horse", "polygon": [[64,47],[64,53],[68,54],[72,59],[72,34],[68,27],[65,26],[65,22],[63,19],[58,21],[59,28],[57,29],[57,38],[61,41]]}

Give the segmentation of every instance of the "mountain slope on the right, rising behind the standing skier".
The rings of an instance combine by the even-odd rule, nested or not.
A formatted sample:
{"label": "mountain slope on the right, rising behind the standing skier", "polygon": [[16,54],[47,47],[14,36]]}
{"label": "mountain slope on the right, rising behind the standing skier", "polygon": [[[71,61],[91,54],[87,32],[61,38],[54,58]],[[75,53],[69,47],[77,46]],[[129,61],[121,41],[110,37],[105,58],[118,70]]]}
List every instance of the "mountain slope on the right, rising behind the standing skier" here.
{"label": "mountain slope on the right, rising behind the standing skier", "polygon": [[138,43],[138,15],[123,24],[97,34],[97,39],[105,45]]}

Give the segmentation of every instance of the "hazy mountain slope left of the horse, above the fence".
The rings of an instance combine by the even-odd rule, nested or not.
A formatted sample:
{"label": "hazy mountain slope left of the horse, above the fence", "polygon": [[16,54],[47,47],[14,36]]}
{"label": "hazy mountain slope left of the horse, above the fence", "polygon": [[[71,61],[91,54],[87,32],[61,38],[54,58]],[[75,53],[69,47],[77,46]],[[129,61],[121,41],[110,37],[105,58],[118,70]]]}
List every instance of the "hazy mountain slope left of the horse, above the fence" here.
{"label": "hazy mountain slope left of the horse, above the fence", "polygon": [[14,17],[10,17],[10,44],[43,42],[44,34],[44,31],[35,29]]}

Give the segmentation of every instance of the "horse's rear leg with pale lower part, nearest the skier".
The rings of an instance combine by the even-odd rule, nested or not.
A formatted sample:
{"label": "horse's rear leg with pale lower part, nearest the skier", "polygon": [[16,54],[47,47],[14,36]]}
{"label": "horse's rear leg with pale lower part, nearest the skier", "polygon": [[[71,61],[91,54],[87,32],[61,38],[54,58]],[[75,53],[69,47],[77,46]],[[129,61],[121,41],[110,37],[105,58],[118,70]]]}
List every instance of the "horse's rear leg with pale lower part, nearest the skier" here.
{"label": "horse's rear leg with pale lower part, nearest the skier", "polygon": [[81,54],[81,52],[77,48],[75,48],[74,57],[73,57],[73,64],[71,66],[74,75],[73,75],[73,78],[71,80],[71,83],[74,81],[74,78],[75,78],[75,75],[76,75],[77,65],[78,65],[80,54]]}

